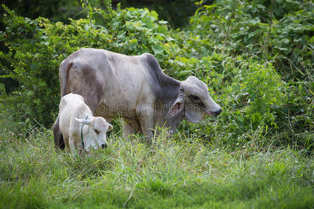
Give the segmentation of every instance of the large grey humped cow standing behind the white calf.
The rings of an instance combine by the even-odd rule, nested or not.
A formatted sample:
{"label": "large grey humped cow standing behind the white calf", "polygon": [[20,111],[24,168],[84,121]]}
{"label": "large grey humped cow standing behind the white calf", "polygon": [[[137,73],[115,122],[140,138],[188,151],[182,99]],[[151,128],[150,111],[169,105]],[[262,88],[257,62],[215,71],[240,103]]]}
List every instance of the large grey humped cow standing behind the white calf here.
{"label": "large grey humped cow standing behind the white calf", "polygon": [[[184,117],[199,123],[205,115],[218,116],[219,107],[207,85],[196,77],[180,82],[163,73],[151,54],[126,56],[104,49],[79,49],[62,61],[59,69],[61,98],[82,95],[94,116],[124,118],[124,135],[143,132],[150,140],[156,125],[173,133]],[[54,142],[63,148],[59,118]]]}

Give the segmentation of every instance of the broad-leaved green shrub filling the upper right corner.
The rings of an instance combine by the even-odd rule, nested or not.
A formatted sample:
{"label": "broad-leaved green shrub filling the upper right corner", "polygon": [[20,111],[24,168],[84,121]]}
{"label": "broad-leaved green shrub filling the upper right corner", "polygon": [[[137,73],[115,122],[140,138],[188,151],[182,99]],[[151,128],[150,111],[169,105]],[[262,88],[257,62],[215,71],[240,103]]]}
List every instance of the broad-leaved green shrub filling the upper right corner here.
{"label": "broad-leaved green shrub filling the upper right corner", "polygon": [[215,1],[197,10],[188,32],[207,49],[254,54],[276,61],[286,79],[304,77],[304,68],[313,68],[313,6],[297,0]]}

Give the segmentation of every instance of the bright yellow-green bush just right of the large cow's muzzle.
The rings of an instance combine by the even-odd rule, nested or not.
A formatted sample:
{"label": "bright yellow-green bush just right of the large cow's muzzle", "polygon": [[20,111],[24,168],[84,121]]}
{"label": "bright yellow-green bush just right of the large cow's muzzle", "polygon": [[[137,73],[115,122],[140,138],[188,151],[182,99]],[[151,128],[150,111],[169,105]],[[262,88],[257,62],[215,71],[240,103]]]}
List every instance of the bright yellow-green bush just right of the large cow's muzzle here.
{"label": "bright yellow-green bush just right of the large cow's muzzle", "polygon": [[[272,109],[285,103],[284,88],[281,77],[270,63],[262,65],[251,60],[241,63],[226,93],[237,92],[234,95],[237,102],[251,103],[246,107],[244,118],[252,120],[253,123],[260,123],[265,118],[271,125],[276,126]],[[239,121],[243,121],[244,118],[240,116]]]}

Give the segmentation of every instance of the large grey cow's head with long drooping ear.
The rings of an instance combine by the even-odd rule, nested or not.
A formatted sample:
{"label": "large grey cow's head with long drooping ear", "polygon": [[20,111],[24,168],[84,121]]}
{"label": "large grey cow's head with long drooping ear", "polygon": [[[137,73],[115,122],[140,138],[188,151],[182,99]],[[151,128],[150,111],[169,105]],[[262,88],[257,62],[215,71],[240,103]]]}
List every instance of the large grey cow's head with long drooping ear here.
{"label": "large grey cow's head with long drooping ear", "polygon": [[190,76],[181,82],[178,98],[170,108],[167,118],[184,113],[190,122],[199,123],[206,114],[216,117],[221,111],[220,106],[209,95],[207,85],[197,77]]}

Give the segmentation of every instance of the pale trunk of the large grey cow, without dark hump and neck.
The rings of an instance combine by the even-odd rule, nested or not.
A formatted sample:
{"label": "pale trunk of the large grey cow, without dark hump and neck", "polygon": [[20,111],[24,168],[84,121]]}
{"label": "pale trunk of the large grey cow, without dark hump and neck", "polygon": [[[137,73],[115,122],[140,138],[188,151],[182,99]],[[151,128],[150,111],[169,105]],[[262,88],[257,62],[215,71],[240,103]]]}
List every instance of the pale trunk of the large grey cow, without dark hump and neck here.
{"label": "pale trunk of the large grey cow, without dark hump and neck", "polygon": [[61,79],[61,83],[66,83],[66,93],[82,95],[98,116],[133,116],[138,105],[152,104],[155,100],[145,57],[80,49],[63,61],[70,68],[64,68],[68,77]]}

